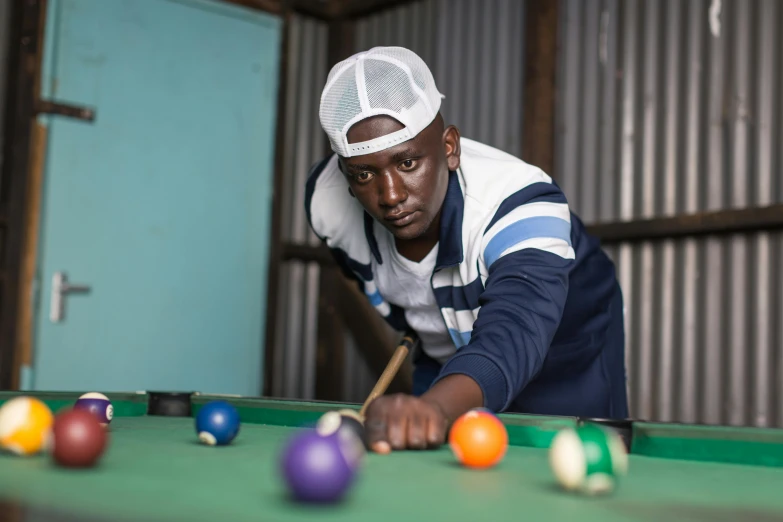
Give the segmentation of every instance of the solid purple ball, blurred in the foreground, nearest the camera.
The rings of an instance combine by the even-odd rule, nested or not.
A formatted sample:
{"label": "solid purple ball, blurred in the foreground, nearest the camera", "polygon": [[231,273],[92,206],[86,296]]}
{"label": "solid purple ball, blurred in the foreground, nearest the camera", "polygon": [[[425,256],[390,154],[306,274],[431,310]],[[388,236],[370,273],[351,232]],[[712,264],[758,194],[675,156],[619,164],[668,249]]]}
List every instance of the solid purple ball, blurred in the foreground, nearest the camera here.
{"label": "solid purple ball, blurred in the foreground, nearest the camera", "polygon": [[336,435],[305,430],[288,441],[281,462],[283,477],[293,498],[300,502],[337,502],[354,477]]}

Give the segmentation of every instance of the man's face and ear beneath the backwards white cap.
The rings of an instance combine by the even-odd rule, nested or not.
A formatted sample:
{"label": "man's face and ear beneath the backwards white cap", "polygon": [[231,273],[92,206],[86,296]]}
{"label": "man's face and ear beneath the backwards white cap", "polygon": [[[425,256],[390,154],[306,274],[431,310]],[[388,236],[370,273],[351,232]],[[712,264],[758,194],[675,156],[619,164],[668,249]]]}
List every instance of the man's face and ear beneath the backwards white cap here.
{"label": "man's face and ear beneath the backwards white cap", "polygon": [[[376,116],[348,131],[358,143],[402,129],[397,120]],[[415,138],[394,147],[352,158],[340,158],[351,193],[365,210],[397,239],[409,240],[431,230],[440,214],[449,170],[459,167],[459,132],[444,130],[440,115]]]}

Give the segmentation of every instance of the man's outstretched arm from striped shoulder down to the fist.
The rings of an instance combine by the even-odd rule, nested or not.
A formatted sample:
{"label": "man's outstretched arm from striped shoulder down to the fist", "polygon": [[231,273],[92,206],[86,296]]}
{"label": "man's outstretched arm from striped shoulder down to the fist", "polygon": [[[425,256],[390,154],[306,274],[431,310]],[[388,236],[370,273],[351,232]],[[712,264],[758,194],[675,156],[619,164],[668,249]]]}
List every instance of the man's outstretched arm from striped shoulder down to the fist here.
{"label": "man's outstretched arm from striped shoulder down to the fist", "polygon": [[[459,415],[478,406],[505,409],[540,371],[565,307],[574,251],[562,193],[545,183],[524,191],[501,205],[485,235],[481,263],[487,280],[470,342],[446,362],[421,399],[389,398],[377,405],[385,420],[371,423],[368,436],[382,452],[422,447],[402,436],[422,431],[417,423],[429,430],[426,447],[442,443]],[[535,205],[518,204],[523,198]],[[394,405],[387,402],[392,400]]]}

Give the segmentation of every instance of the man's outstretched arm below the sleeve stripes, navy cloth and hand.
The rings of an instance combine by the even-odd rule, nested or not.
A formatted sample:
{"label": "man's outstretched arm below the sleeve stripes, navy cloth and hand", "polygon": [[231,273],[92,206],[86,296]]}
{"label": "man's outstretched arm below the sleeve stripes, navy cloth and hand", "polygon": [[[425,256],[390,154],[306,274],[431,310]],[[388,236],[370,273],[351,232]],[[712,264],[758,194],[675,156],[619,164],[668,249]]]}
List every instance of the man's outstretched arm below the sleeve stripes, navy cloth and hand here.
{"label": "man's outstretched arm below the sleeve stripes, navy cloth and hand", "polygon": [[420,398],[386,395],[370,405],[370,447],[378,453],[434,448],[463,413],[503,410],[541,369],[565,305],[569,266],[524,251],[498,261],[470,343],[446,362],[433,386]]}

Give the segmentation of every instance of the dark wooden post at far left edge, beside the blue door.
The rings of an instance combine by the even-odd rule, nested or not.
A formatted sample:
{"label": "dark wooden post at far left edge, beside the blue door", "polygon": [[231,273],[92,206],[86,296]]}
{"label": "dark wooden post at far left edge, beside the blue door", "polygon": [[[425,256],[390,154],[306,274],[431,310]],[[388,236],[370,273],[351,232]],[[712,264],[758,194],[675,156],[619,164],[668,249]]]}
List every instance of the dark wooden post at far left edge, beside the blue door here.
{"label": "dark wooden post at far left edge, beside the blue door", "polygon": [[21,269],[30,144],[37,99],[45,0],[14,2],[9,46],[5,163],[0,176],[0,215],[6,216],[0,294],[0,389],[15,384],[17,297]]}

